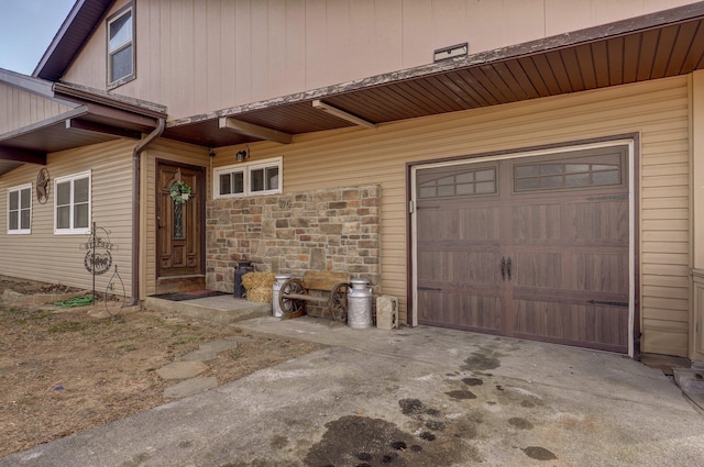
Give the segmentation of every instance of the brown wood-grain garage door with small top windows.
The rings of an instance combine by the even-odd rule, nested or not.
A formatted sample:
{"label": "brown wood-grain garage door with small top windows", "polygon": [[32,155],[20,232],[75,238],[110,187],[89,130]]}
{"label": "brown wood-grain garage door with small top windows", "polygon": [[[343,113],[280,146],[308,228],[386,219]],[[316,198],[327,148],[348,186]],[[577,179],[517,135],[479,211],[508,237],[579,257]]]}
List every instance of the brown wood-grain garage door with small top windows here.
{"label": "brown wood-grain garage door with small top windows", "polygon": [[416,173],[419,324],[628,352],[627,146]]}

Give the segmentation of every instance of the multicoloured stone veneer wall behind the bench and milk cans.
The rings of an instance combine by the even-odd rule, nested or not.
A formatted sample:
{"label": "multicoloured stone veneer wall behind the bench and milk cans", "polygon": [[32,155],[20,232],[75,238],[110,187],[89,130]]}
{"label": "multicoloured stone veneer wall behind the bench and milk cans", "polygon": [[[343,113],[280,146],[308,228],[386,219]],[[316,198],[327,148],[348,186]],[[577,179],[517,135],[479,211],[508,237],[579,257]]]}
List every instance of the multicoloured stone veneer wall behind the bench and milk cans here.
{"label": "multicoloured stone veneer wall behind the bench and milk cans", "polygon": [[293,277],[349,273],[378,293],[381,191],[367,186],[208,201],[208,289],[232,292],[234,268],[250,260],[257,271]]}

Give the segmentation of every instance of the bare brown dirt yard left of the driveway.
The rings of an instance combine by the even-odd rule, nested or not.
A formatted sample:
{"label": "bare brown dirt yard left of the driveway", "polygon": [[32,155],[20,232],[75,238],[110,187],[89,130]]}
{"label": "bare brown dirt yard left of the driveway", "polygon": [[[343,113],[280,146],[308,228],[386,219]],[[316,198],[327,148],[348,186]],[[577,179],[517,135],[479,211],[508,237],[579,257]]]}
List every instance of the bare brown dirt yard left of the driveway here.
{"label": "bare brown dirt yard left of the driveway", "polygon": [[[65,291],[0,276],[0,298],[6,289]],[[200,376],[219,385],[320,348],[167,312],[88,311],[0,300],[0,457],[168,402],[164,389],[179,381],[156,369],[201,343],[246,337],[206,363]]]}

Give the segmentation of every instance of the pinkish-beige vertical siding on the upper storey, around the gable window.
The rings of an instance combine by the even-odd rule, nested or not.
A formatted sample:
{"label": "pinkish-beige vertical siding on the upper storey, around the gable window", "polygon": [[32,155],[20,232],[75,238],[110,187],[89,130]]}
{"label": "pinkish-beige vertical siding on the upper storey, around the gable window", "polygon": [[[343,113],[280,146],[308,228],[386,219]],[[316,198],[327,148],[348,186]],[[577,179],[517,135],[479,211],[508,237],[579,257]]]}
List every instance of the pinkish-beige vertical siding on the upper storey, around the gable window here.
{"label": "pinkish-beige vertical siding on the upper storey, around the gable window", "polygon": [[[476,54],[692,2],[135,1],[136,79],[116,92],[179,119],[427,65],[455,44]],[[106,88],[105,23],[64,80]]]}

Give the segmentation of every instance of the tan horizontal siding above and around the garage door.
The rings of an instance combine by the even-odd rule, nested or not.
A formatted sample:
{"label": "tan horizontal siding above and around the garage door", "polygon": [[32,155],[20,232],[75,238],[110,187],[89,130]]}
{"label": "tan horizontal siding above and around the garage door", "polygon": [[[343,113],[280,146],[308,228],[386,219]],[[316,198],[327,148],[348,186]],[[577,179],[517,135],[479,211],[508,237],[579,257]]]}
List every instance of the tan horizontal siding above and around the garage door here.
{"label": "tan horizontal siding above and around the garage door", "polygon": [[[284,155],[284,190],[382,187],[382,291],[406,311],[406,163],[640,133],[642,351],[686,355],[689,137],[686,77],[295,137],[251,146]],[[219,153],[217,165],[234,152]]]}

